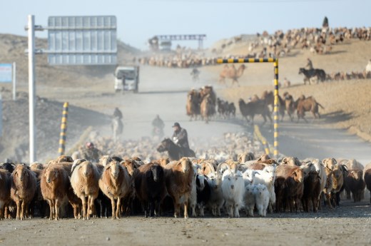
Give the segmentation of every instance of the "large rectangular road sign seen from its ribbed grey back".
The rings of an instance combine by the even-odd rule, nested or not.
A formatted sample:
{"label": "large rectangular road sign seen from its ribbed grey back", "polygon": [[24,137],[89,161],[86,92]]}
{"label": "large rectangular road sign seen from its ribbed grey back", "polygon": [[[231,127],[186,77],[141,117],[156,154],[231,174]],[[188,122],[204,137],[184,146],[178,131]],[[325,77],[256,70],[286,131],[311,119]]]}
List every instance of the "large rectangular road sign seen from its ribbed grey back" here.
{"label": "large rectangular road sign seen from its ribbed grey back", "polygon": [[51,65],[116,65],[116,16],[49,16]]}

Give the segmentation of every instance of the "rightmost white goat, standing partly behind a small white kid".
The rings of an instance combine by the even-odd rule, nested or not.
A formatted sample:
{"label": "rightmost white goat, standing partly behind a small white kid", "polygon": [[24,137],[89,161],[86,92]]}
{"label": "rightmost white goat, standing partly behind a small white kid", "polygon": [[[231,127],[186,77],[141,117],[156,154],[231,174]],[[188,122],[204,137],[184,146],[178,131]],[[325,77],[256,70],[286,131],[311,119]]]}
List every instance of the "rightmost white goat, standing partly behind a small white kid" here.
{"label": "rightmost white goat, standing partly behind a small white kid", "polygon": [[265,185],[269,191],[269,212],[273,212],[275,205],[275,165],[267,165],[263,170],[255,173],[254,184]]}

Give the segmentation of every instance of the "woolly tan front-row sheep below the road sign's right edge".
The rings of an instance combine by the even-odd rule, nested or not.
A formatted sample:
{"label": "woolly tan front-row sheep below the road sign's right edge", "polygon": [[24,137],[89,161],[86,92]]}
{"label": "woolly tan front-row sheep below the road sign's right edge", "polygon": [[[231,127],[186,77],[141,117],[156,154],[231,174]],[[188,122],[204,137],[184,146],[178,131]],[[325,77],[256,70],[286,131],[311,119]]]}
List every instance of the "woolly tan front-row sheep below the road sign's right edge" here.
{"label": "woolly tan front-row sheep below the road sign's right edge", "polygon": [[112,220],[120,218],[121,198],[131,192],[131,177],[128,171],[116,160],[112,160],[104,167],[98,184],[104,195],[111,199]]}

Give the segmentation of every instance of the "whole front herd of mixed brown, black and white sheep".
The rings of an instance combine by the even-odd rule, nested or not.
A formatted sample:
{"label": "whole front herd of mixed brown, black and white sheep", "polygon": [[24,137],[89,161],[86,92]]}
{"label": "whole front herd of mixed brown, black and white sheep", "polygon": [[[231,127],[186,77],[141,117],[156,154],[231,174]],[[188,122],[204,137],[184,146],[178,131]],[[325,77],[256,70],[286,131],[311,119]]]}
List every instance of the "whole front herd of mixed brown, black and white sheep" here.
{"label": "whole front herd of mixed brown, black and white sheep", "polygon": [[[254,153],[221,161],[167,158],[143,161],[103,155],[98,163],[61,155],[48,164],[1,163],[0,218],[39,216],[59,220],[73,209],[75,219],[263,216],[272,212],[317,212],[340,205],[340,194],[355,203],[371,192],[371,163],[357,160],[270,158]],[[69,205],[71,206],[68,206]],[[47,214],[49,205],[49,215]],[[99,208],[99,209],[98,209]]]}

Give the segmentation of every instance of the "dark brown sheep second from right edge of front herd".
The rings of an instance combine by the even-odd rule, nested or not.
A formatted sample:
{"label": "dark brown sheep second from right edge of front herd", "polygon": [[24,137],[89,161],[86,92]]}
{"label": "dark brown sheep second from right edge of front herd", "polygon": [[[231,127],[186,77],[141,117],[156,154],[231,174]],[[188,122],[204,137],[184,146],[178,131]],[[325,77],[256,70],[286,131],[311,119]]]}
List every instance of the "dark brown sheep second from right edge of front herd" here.
{"label": "dark brown sheep second from right edge of front herd", "polygon": [[348,170],[348,175],[345,177],[345,185],[349,188],[353,196],[353,201],[360,202],[362,193],[365,191],[365,181],[363,180],[363,171],[360,169]]}

